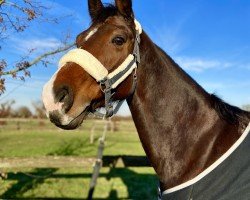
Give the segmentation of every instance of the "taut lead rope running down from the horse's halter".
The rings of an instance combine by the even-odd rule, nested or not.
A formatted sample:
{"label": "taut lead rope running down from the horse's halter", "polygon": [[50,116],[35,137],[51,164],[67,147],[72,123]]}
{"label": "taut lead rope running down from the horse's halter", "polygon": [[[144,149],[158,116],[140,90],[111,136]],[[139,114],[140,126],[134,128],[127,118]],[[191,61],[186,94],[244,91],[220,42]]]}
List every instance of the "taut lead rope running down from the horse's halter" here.
{"label": "taut lead rope running down from the horse's halter", "polygon": [[89,193],[88,193],[88,200],[92,200],[93,199],[93,193],[95,190],[95,186],[97,183],[97,178],[100,174],[100,170],[103,164],[103,150],[105,147],[105,139],[106,139],[106,133],[108,131],[108,124],[111,123],[111,121],[107,120],[107,119],[103,119],[103,121],[105,122],[105,125],[103,127],[103,133],[102,133],[102,137],[99,138],[99,145],[98,145],[98,151],[97,151],[97,156],[96,156],[96,161],[93,167],[93,173],[92,173],[92,177],[91,177],[91,181],[90,181],[90,185],[89,185]]}

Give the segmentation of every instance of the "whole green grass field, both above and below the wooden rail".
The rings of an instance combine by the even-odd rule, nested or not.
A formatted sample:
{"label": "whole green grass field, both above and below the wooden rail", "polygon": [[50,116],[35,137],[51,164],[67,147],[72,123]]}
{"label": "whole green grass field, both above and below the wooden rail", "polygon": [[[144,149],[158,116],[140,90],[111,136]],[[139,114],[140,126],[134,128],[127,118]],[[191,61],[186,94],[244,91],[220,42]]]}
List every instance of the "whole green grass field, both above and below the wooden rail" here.
{"label": "whole green grass field, both above and below the wooden rail", "polygon": [[[95,126],[95,142],[90,130]],[[107,133],[104,155],[145,155],[132,121],[122,121]],[[0,158],[41,156],[94,157],[103,123],[88,120],[76,131],[62,131],[48,121],[8,121],[0,127]],[[92,166],[82,168],[0,169],[0,198],[86,199]],[[104,167],[95,199],[156,199],[157,178],[152,168]]]}

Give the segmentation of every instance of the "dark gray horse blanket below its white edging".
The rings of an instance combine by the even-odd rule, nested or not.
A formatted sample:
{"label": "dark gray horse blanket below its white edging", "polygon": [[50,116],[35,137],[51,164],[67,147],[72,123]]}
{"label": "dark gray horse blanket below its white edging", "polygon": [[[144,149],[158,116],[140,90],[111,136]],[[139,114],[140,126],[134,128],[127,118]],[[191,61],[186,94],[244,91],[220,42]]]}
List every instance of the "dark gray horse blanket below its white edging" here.
{"label": "dark gray horse blanket below its white edging", "polygon": [[162,200],[250,200],[250,134],[218,167],[197,183]]}

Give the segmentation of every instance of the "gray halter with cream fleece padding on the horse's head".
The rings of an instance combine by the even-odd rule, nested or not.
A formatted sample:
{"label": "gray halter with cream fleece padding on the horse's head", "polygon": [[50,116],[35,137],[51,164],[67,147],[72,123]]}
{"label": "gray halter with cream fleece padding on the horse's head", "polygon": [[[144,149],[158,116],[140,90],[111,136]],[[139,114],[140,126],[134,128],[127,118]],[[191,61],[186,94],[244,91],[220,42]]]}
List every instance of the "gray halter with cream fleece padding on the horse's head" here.
{"label": "gray halter with cream fleece padding on the horse's head", "polygon": [[97,111],[93,113],[102,118],[112,117],[116,114],[121,107],[124,100],[119,100],[116,107],[113,107],[112,90],[117,88],[134,70],[133,76],[135,88],[136,84],[136,69],[138,63],[140,63],[140,34],[142,33],[142,27],[140,23],[135,20],[136,37],[134,43],[133,54],[129,54],[124,62],[117,67],[113,72],[109,73],[108,70],[102,65],[102,63],[93,56],[90,52],[84,49],[73,49],[65,54],[59,61],[59,68],[63,67],[68,62],[74,62],[81,66],[90,76],[92,76],[99,84],[102,92],[105,95],[105,110],[106,113],[102,114]]}

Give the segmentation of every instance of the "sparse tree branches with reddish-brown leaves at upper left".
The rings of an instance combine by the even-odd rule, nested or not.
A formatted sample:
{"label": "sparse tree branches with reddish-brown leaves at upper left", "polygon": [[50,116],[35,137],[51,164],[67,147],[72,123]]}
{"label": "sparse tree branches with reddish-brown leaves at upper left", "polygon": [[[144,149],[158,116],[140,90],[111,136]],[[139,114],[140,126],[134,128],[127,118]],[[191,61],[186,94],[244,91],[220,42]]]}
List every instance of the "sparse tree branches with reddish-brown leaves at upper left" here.
{"label": "sparse tree branches with reddish-brown leaves at upper left", "polygon": [[[0,41],[9,36],[10,33],[20,33],[25,31],[29,24],[36,19],[45,19],[48,22],[58,22],[58,19],[47,19],[44,12],[48,7],[36,0],[0,0]],[[30,77],[28,71],[30,67],[42,63],[44,66],[49,64],[47,58],[60,52],[66,51],[74,46],[73,43],[68,42],[68,37],[62,42],[60,47],[52,49],[38,55],[34,59],[22,58],[15,66],[9,66],[8,61],[0,58],[0,95],[5,91],[5,77],[12,76],[25,80]],[[1,51],[1,46],[0,46]],[[32,53],[33,49],[30,50]],[[19,72],[23,72],[19,75]]]}

